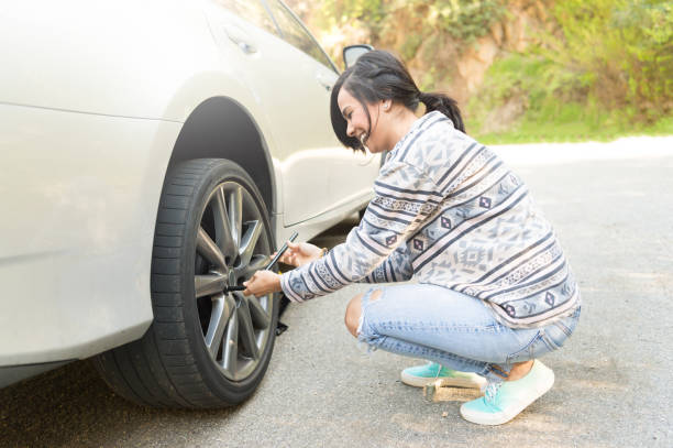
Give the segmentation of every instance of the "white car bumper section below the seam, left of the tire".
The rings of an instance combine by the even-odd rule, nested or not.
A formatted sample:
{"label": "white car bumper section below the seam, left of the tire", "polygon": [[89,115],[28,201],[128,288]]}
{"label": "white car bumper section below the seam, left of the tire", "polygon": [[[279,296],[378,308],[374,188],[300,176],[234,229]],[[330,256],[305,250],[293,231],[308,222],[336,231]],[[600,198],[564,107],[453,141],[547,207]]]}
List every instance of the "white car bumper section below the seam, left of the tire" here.
{"label": "white car bumper section below the seam, left of the tire", "polygon": [[163,153],[179,130],[0,105],[0,365],[88,357],[120,328],[142,336]]}

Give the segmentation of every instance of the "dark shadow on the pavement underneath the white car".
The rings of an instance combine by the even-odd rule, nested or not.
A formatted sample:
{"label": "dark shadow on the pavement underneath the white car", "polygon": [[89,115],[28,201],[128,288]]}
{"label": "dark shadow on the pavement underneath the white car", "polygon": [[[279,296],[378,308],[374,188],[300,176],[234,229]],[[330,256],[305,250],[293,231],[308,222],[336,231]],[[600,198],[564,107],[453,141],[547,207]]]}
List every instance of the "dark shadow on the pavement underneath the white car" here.
{"label": "dark shadow on the pavement underneath the white car", "polygon": [[[311,242],[332,248],[356,225],[355,217],[350,218]],[[0,389],[0,403],[3,447],[119,446],[131,436],[136,440],[150,426],[156,430],[157,425],[165,425],[172,431],[176,425],[188,428],[190,420],[222,420],[245,407],[179,411],[136,406],[115,395],[87,360]]]}

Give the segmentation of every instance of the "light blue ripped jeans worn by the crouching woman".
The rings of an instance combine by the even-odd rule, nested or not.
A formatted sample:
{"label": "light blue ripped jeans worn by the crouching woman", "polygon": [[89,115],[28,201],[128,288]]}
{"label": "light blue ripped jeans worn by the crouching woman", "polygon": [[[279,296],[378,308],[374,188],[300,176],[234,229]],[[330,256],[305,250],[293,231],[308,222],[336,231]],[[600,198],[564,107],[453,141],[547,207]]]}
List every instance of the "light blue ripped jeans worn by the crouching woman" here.
{"label": "light blue ripped jeans worn by the crouching woman", "polygon": [[[371,301],[377,289],[380,297]],[[423,358],[500,382],[514,363],[562,347],[578,318],[580,307],[544,327],[509,328],[478,298],[435,285],[406,284],[373,287],[363,296],[357,339],[374,350]]]}

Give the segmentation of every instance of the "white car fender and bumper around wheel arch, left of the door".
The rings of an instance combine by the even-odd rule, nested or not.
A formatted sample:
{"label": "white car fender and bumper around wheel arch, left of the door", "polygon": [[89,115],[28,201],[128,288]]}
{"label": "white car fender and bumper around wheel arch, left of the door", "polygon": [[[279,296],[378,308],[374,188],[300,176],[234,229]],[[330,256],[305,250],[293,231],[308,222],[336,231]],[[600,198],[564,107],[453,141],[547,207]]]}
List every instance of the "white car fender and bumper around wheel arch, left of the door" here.
{"label": "white car fender and bumper around wheel arch, left of the door", "polygon": [[[151,45],[136,42],[150,7],[180,10],[189,32],[170,37],[166,13]],[[82,42],[87,12],[93,43]],[[129,18],[126,34],[111,33]],[[11,335],[0,340],[0,365],[86,358],[146,330],[158,197],[199,105],[235,98],[273,147],[258,101],[233,79],[203,22],[184,1],[26,0],[0,12],[9,67],[0,70],[0,174],[21,193],[5,196],[11,214],[0,225],[12,236],[0,247],[0,328]],[[166,50],[154,54],[157,43]],[[141,69],[123,69],[125,51]]]}

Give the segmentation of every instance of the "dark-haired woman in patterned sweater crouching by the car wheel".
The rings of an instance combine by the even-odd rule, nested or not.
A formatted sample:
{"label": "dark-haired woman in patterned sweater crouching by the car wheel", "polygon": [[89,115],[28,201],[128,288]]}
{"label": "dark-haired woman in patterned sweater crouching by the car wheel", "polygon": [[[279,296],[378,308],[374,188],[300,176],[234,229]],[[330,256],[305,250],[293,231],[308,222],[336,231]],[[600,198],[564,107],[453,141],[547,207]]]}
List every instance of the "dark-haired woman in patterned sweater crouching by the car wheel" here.
{"label": "dark-haired woman in patterned sweater crouching by the car wheel", "polygon": [[282,261],[297,269],[260,271],[245,294],[283,289],[304,302],[353,282],[413,277],[417,284],[354,297],[345,314],[351,334],[431,361],[405,370],[407,383],[488,381],[461,415],[485,425],[510,420],[552,386],[553,372],[537,358],[560,348],[580,316],[577,285],[551,226],[521,179],[464,133],[455,101],[421,92],[391,54],[366,53],[340,76],[331,116],[344,145],[389,151],[375,198],[343,244],[327,254],[290,244]]}

